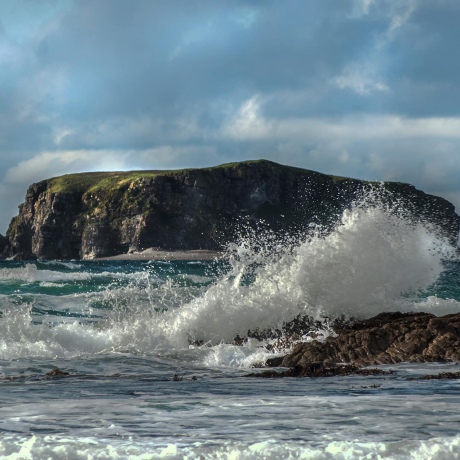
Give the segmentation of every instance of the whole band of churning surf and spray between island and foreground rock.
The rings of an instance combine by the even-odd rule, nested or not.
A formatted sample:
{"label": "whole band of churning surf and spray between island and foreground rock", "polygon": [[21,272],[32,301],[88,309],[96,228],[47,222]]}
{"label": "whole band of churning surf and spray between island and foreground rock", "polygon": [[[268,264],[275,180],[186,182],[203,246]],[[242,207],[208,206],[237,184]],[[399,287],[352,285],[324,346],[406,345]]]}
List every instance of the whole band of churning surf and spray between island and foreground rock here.
{"label": "whole band of churning surf and spray between island and foreground rock", "polygon": [[[185,353],[202,343],[187,351],[196,362],[244,366],[265,353],[257,341],[243,350],[221,344],[248,331],[282,330],[299,316],[324,323],[391,310],[458,310],[458,299],[425,293],[452,258],[451,246],[376,190],[332,230],[307,226],[300,237],[247,231],[229,246],[228,262],[212,269],[179,262],[142,270],[120,263],[113,272],[107,263],[89,269],[90,262],[2,268],[0,283],[11,294],[2,302],[0,357]],[[16,293],[22,284],[27,294]],[[52,289],[59,296],[44,294]]]}

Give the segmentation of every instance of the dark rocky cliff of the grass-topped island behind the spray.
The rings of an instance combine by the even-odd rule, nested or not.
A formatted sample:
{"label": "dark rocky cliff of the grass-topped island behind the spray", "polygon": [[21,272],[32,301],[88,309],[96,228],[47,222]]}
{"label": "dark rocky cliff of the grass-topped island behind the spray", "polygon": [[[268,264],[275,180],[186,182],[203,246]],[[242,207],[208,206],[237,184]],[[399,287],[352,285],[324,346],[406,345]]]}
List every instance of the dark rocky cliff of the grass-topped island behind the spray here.
{"label": "dark rocky cliff of the grass-topped island behind the spray", "polygon": [[[7,232],[7,255],[91,259],[142,250],[219,249],[241,222],[275,231],[332,225],[369,184],[248,161],[181,171],[72,174],[29,187]],[[410,214],[456,239],[460,217],[446,200],[387,183]]]}

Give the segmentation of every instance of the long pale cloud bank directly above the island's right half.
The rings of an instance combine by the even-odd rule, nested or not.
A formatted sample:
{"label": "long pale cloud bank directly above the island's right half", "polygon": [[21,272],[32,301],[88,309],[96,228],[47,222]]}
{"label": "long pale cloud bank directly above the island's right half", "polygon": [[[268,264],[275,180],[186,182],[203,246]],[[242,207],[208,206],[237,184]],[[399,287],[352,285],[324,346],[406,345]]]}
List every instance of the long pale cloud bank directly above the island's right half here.
{"label": "long pale cloud bank directly above the island's right half", "polygon": [[[448,193],[460,209],[460,117],[269,118],[261,97],[243,103],[220,132],[253,157],[371,180],[409,182]],[[445,195],[447,196],[447,195]]]}

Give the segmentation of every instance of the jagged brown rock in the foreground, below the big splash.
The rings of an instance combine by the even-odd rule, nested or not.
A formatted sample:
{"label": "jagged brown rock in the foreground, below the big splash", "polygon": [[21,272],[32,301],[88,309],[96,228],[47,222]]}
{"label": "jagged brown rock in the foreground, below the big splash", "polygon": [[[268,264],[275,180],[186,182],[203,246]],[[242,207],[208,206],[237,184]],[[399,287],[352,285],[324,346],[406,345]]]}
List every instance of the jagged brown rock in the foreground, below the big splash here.
{"label": "jagged brown rock in the foreground, below the big splash", "polygon": [[338,331],[325,341],[301,343],[284,357],[282,367],[311,375],[312,366],[368,366],[399,362],[460,361],[460,313],[383,313]]}

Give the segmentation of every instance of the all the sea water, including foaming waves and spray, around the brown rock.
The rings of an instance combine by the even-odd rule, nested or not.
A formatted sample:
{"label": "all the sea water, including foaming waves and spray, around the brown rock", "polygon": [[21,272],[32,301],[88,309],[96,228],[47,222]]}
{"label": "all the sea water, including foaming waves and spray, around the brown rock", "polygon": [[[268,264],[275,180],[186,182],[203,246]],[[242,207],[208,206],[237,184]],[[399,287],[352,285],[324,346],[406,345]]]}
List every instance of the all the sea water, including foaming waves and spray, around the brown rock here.
{"label": "all the sea water, including foaming waves and spray, around the brown rock", "polygon": [[383,206],[296,241],[246,234],[224,260],[2,261],[0,456],[460,458],[460,381],[408,380],[458,363],[260,379],[287,350],[233,344],[383,311],[460,311],[455,248]]}

